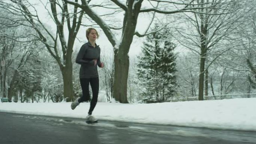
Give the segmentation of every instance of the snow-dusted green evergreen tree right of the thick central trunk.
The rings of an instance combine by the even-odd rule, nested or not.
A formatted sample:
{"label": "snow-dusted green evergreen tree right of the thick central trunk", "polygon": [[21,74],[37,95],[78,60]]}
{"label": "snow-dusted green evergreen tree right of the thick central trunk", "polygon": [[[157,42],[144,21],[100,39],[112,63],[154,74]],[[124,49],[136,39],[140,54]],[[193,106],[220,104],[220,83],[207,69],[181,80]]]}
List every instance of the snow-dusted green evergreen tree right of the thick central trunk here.
{"label": "snow-dusted green evergreen tree right of the thick central trunk", "polygon": [[[159,26],[156,25],[154,29],[159,29]],[[148,35],[143,44],[137,64],[141,95],[148,102],[167,100],[174,96],[177,86],[174,54],[176,46],[169,41],[167,30]]]}

